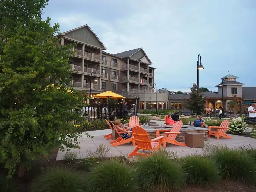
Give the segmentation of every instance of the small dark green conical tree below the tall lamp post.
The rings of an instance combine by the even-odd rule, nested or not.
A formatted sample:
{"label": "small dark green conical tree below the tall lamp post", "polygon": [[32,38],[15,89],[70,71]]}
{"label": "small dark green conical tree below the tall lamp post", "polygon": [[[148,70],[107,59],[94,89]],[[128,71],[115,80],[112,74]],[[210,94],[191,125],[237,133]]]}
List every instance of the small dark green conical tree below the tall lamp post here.
{"label": "small dark green conical tree below the tall lamp post", "polygon": [[197,90],[197,85],[193,83],[191,87],[190,99],[188,100],[189,109],[196,113],[197,115],[201,115],[204,110],[205,100],[202,97],[201,90]]}

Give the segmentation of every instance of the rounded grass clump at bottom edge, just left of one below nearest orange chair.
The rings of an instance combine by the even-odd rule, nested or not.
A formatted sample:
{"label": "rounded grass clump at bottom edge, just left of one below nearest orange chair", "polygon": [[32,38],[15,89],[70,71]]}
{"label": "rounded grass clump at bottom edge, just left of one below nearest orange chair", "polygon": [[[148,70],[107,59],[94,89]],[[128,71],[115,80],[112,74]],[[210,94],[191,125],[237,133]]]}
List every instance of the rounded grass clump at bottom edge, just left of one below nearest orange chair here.
{"label": "rounded grass clump at bottom edge, just left of one below nearest orange chair", "polygon": [[88,191],[137,192],[139,185],[135,176],[133,169],[123,162],[113,159],[104,161],[91,169]]}

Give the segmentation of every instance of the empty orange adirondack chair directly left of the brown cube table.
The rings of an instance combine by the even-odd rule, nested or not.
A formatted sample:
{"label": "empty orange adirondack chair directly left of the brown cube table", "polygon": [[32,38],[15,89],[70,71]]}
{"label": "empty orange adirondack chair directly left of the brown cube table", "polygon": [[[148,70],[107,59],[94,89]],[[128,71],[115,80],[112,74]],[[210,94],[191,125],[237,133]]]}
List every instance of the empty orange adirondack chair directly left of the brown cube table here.
{"label": "empty orange adirondack chair directly left of the brown cube table", "polygon": [[166,147],[166,143],[171,143],[173,145],[186,146],[185,143],[180,143],[176,140],[178,134],[180,134],[180,130],[182,127],[182,121],[177,121],[171,130],[156,130],[156,136],[159,136],[159,132],[164,132],[165,136],[163,138],[163,147]]}

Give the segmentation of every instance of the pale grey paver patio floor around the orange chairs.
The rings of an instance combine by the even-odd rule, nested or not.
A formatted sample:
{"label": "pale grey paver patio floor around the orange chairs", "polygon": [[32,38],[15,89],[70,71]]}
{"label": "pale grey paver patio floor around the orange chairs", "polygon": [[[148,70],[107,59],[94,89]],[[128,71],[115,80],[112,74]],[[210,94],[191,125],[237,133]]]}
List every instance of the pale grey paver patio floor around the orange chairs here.
{"label": "pale grey paver patio floor around the orange chairs", "polygon": [[[158,124],[161,125],[161,121],[155,121]],[[162,123],[163,124],[163,123]],[[163,124],[164,125],[164,124]],[[124,144],[116,147],[112,147],[109,142],[111,140],[106,140],[104,138],[104,135],[110,134],[111,130],[99,130],[99,131],[90,131],[88,132],[90,135],[93,135],[94,138],[88,138],[86,135],[82,135],[82,138],[79,139],[79,146],[81,147],[79,149],[71,149],[71,151],[77,152],[79,154],[79,158],[86,158],[88,157],[89,151],[96,151],[97,147],[100,144],[104,144],[107,148],[110,149],[110,153],[107,155],[108,157],[114,157],[114,156],[128,156],[130,152],[132,152],[134,146],[131,144]],[[253,148],[256,148],[256,139],[250,138],[250,137],[243,137],[238,135],[230,135],[233,137],[233,139],[225,139],[221,138],[219,141],[217,141],[216,138],[208,138],[208,141],[205,141],[205,143],[219,143],[219,144],[225,144],[230,148],[237,148],[240,146],[251,146]],[[172,144],[167,144],[166,150],[173,151],[174,153],[177,153],[180,157],[186,156],[189,154],[202,154],[203,149],[202,148],[190,148],[190,147],[181,147],[176,146]],[[56,157],[57,160],[62,160],[65,152],[59,151]]]}

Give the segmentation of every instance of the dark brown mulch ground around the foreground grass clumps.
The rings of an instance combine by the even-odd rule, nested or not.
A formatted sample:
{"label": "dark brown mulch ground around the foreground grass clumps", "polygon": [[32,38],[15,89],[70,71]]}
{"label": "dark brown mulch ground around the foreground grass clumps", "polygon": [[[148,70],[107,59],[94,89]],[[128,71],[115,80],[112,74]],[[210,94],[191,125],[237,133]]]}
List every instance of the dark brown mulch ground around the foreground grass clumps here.
{"label": "dark brown mulch ground around the foreground grass clumps", "polygon": [[[47,168],[51,167],[67,167],[70,169],[78,169],[77,163],[67,163],[65,161],[55,161],[58,153],[58,149],[55,148],[49,154],[48,160],[35,161],[32,169],[25,173],[24,177],[19,178],[14,176],[14,179],[18,182],[18,189],[20,192],[29,192],[30,184],[33,179],[37,178],[41,174],[45,173]],[[246,184],[240,184],[233,181],[222,181],[218,186],[200,187],[200,186],[186,186],[183,190],[178,192],[256,192],[256,188],[248,186]]]}

